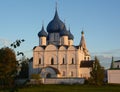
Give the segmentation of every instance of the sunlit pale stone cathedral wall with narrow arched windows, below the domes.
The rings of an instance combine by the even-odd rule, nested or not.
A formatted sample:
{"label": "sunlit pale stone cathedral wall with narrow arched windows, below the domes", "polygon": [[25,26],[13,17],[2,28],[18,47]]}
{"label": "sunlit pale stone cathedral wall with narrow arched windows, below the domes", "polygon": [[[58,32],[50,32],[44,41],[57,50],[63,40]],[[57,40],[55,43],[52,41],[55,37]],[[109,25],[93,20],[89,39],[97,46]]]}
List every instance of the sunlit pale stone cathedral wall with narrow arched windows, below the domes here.
{"label": "sunlit pale stone cathedral wall with narrow arched windows, below the domes", "polygon": [[61,46],[58,49],[55,45],[48,45],[45,50],[37,46],[33,52],[33,68],[51,66],[59,70],[59,77],[89,77],[90,69],[80,68],[84,55],[81,49],[76,49],[74,46],[69,46],[67,49]]}

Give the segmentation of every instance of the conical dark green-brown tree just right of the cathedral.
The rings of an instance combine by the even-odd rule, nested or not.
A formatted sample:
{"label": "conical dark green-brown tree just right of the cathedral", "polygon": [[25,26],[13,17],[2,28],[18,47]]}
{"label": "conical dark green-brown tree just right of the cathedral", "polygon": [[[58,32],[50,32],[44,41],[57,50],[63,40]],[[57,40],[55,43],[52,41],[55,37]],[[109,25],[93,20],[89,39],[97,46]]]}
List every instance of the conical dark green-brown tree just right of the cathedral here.
{"label": "conical dark green-brown tree just right of the cathedral", "polygon": [[100,65],[99,60],[95,57],[92,70],[90,72],[91,77],[89,82],[95,85],[102,85],[104,83],[104,68]]}

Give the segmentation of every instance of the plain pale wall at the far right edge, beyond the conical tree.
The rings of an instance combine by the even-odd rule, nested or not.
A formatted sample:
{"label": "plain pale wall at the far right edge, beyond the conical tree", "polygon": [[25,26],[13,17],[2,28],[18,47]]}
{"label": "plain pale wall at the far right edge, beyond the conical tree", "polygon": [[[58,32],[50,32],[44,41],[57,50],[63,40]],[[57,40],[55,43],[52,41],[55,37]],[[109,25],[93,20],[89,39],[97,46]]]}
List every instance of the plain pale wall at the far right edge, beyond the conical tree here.
{"label": "plain pale wall at the far right edge, beyond the conical tree", "polygon": [[120,70],[107,70],[108,83],[120,84]]}

